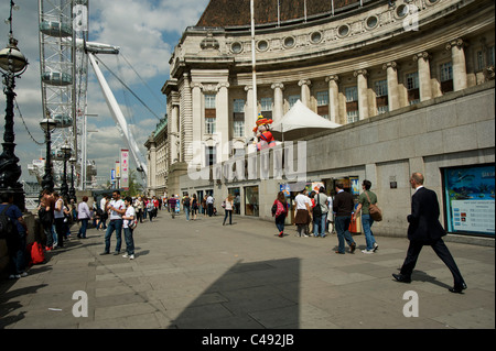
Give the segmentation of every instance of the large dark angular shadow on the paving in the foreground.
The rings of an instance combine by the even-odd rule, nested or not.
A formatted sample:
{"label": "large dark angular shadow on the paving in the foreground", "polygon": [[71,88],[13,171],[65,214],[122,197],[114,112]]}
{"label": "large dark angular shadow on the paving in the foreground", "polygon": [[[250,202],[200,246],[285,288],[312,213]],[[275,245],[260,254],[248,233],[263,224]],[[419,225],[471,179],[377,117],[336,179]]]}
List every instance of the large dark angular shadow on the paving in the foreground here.
{"label": "large dark angular shadow on the paving in the foreground", "polygon": [[236,263],[169,328],[298,328],[300,259]]}

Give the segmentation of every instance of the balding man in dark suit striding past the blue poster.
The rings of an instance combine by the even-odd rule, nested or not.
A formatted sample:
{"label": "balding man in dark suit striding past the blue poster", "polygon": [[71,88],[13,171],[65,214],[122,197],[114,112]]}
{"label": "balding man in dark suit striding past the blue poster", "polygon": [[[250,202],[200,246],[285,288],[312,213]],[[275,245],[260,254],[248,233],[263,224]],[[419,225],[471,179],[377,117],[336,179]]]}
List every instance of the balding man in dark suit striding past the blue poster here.
{"label": "balding man in dark suit striding past the blue poster", "polygon": [[410,184],[416,193],[411,198],[411,215],[408,216],[408,246],[407,257],[405,259],[400,274],[392,274],[395,279],[402,283],[411,282],[411,273],[417,264],[420,251],[423,245],[430,245],[438,256],[450,268],[454,278],[454,286],[449,288],[452,293],[462,293],[466,288],[462,274],[448,250],[444,241],[441,239],[446,234],[439,222],[439,202],[434,191],[423,187],[423,175],[413,173],[410,177]]}

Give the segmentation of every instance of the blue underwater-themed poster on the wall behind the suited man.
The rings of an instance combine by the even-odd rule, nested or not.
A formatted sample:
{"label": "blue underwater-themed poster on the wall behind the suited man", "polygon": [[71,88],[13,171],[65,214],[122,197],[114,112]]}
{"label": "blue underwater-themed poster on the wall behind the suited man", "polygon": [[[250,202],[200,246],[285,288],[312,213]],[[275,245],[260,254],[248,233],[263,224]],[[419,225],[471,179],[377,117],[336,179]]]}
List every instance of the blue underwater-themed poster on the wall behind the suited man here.
{"label": "blue underwater-themed poster on the wall behind the suited man", "polygon": [[494,165],[445,168],[448,231],[494,237]]}

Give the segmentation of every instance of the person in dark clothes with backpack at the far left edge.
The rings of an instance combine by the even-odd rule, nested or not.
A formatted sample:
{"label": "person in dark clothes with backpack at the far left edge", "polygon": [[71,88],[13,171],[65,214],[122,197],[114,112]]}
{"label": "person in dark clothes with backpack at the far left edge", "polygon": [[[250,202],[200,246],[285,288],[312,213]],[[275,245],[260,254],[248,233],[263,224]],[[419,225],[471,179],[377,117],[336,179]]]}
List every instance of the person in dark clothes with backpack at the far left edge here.
{"label": "person in dark clothes with backpack at the far left edge", "polygon": [[0,238],[6,239],[9,251],[9,278],[26,276],[25,273],[25,239],[28,226],[22,212],[13,205],[13,194],[0,195]]}

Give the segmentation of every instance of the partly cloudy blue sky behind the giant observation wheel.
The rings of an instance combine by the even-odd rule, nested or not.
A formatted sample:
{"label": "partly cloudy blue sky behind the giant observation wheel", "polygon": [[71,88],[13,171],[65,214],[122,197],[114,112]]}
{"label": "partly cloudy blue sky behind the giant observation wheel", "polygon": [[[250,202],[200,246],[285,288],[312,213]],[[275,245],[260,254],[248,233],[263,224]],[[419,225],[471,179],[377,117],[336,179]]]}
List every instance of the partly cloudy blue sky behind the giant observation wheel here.
{"label": "partly cloudy blue sky behind the giant observation wheel", "polygon": [[[187,26],[196,24],[208,0],[89,0],[88,2],[89,41],[120,47],[120,56],[105,55],[101,57],[103,62],[154,112],[151,113],[142,107],[131,92],[100,66],[145,157],[147,150],[143,144],[159,122],[154,114],[162,118],[166,113],[166,100],[161,88],[170,77],[169,59],[182,33]],[[13,11],[12,15],[13,36],[19,41],[18,47],[29,62],[26,72],[15,80],[17,102],[22,114],[21,119],[18,110],[14,110],[15,155],[20,158],[19,165],[22,167],[20,180],[34,180],[35,178],[29,175],[28,164],[44,157],[46,150],[44,144],[40,146],[33,141],[34,139],[36,142],[44,142],[44,133],[40,128],[43,111],[39,1],[14,0],[14,3],[19,9]],[[0,0],[1,48],[8,44],[9,24],[4,20],[9,18],[9,9],[10,0]],[[94,132],[89,132],[87,136],[87,158],[95,161],[98,177],[109,179],[119,150],[128,149],[128,145],[116,128],[90,66],[87,99],[87,113],[97,114],[88,117],[87,129]],[[6,96],[1,94],[2,135],[4,110]],[[130,166],[136,168],[133,160],[130,161]],[[107,179],[99,183],[105,184]]]}

